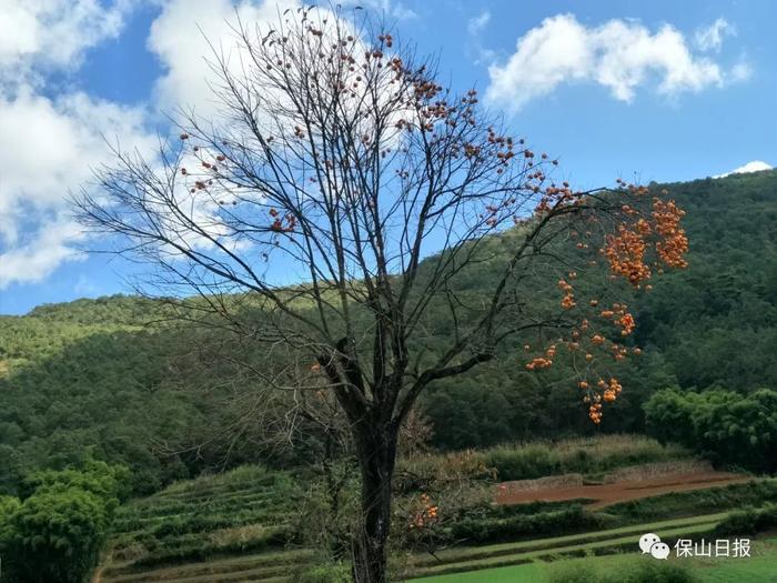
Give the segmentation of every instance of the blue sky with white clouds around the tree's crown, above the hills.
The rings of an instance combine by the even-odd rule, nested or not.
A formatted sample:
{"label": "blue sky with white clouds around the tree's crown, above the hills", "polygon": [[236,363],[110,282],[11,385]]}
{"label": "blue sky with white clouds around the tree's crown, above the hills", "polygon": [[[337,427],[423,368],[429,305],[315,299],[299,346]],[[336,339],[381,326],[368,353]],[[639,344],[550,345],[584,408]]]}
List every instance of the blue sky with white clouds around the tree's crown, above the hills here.
{"label": "blue sky with white clouds around the tree's crown, above the hills", "polygon": [[[269,0],[239,4],[259,20],[278,13]],[[361,4],[437,54],[443,81],[477,87],[576,185],[777,163],[777,2]],[[128,291],[125,262],[79,251],[91,240],[68,192],[110,160],[101,134],[150,151],[169,131],[162,111],[208,112],[198,26],[220,39],[233,10],[229,0],[3,2],[0,313]]]}

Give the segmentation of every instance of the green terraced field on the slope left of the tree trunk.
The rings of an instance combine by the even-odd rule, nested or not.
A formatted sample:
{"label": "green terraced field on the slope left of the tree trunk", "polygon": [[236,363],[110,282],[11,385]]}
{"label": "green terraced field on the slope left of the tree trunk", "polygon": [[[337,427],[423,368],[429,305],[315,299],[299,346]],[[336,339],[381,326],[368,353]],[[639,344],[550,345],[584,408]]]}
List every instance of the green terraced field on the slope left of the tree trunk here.
{"label": "green terraced field on the slope left of the tree trunk", "polygon": [[121,509],[99,583],[286,580],[312,560],[294,546],[290,475],[246,466],[182,482]]}

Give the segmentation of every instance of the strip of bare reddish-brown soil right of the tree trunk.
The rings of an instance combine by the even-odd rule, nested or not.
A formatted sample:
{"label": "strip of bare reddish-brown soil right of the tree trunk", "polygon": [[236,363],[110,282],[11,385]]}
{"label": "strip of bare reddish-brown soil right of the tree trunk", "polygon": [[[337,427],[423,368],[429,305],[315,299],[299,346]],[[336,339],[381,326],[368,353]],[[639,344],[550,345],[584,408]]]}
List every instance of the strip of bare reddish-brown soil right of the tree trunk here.
{"label": "strip of bare reddish-brown soil right of the tree trunk", "polygon": [[522,482],[505,482],[497,486],[497,504],[519,504],[522,502],[558,502],[564,500],[588,499],[594,502],[589,509],[601,509],[670,492],[687,492],[707,487],[741,484],[750,478],[728,472],[680,472],[644,480],[624,480],[612,484],[574,485],[546,487],[542,490],[525,489]]}

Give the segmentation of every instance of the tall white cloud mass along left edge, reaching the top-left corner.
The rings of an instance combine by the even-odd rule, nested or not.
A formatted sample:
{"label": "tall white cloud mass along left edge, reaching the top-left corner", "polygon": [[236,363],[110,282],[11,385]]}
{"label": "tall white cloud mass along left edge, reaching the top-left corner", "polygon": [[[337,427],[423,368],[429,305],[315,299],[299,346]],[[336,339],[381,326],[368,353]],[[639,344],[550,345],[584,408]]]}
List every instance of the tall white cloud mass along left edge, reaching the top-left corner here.
{"label": "tall white cloud mass along left edge, reaching the top-left corner", "polygon": [[109,160],[103,134],[153,145],[141,108],[43,92],[48,74],[77,71],[144,1],[0,0],[0,289],[80,258],[72,243],[83,234],[67,198]]}

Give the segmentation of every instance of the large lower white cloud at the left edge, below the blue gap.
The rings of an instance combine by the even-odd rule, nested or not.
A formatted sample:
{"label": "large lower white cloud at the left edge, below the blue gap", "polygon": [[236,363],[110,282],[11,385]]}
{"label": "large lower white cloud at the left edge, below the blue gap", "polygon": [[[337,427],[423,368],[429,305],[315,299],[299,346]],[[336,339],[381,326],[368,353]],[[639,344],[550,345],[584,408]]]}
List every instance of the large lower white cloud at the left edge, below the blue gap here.
{"label": "large lower white cloud at the left edge, below the blue gap", "polygon": [[68,193],[109,161],[102,133],[150,151],[144,119],[139,108],[80,92],[51,100],[23,86],[0,94],[0,289],[41,281],[77,257]]}

